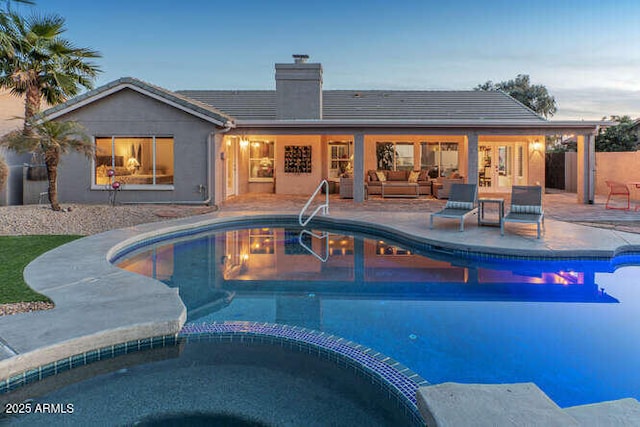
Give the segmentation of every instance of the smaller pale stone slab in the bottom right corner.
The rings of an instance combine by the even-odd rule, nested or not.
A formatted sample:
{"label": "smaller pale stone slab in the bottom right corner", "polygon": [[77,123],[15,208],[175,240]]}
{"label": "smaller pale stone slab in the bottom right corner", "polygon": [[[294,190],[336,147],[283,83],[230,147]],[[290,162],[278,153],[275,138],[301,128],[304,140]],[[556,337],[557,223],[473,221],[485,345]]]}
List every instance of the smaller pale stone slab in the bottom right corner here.
{"label": "smaller pale stone slab in the bottom right corner", "polygon": [[564,412],[583,426],[640,426],[640,402],[636,399],[572,406]]}

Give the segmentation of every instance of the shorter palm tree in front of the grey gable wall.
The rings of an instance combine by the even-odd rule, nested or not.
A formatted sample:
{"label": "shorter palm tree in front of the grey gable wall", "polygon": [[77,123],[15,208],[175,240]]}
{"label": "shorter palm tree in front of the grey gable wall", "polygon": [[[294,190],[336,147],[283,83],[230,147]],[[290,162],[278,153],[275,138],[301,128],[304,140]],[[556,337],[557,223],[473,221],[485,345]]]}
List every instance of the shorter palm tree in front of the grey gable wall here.
{"label": "shorter palm tree in front of the grey gable wall", "polygon": [[29,129],[28,134],[13,131],[5,135],[0,144],[19,153],[36,153],[44,157],[49,181],[49,202],[51,209],[59,211],[57,179],[60,156],[76,151],[91,158],[95,146],[77,122],[32,121]]}

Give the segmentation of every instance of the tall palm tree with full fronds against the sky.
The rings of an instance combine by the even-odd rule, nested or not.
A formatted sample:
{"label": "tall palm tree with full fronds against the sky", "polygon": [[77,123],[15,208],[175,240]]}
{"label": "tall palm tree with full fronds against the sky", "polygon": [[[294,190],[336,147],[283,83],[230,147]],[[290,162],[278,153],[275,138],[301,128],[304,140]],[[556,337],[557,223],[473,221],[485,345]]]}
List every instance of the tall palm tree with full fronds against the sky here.
{"label": "tall palm tree with full fronds against the sky", "polygon": [[100,53],[74,46],[61,37],[66,31],[59,15],[32,15],[22,18],[8,13],[0,20],[0,88],[17,96],[26,95],[24,130],[29,132],[32,118],[44,99],[49,105],[76,96],[82,88],[91,89],[100,72],[89,61]]}

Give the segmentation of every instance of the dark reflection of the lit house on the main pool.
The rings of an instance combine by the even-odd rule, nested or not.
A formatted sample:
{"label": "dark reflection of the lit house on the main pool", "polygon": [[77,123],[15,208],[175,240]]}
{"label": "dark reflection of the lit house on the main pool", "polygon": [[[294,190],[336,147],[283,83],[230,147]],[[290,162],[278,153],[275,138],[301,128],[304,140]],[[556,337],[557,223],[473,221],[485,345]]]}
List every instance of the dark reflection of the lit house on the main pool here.
{"label": "dark reflection of the lit house on the main pool", "polygon": [[597,272],[613,271],[607,261],[472,259],[422,254],[358,235],[300,237],[300,231],[261,227],[163,242],[126,257],[118,266],[180,287],[190,318],[219,310],[236,295],[286,295],[296,303],[282,304],[292,307],[301,301],[311,304],[310,294],[385,300],[618,302],[595,283]]}

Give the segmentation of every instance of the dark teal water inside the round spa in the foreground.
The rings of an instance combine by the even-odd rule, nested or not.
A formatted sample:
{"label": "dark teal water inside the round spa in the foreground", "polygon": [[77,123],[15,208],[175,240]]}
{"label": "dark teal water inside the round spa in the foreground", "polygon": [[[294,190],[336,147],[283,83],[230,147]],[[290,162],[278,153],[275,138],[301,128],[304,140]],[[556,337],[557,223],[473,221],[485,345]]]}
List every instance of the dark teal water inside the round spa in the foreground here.
{"label": "dark teal water inside the round spa in the foreground", "polygon": [[32,399],[31,408],[47,403],[72,405],[72,410],[0,415],[0,425],[415,425],[353,369],[295,348],[255,342],[190,341],[135,352],[17,393]]}

